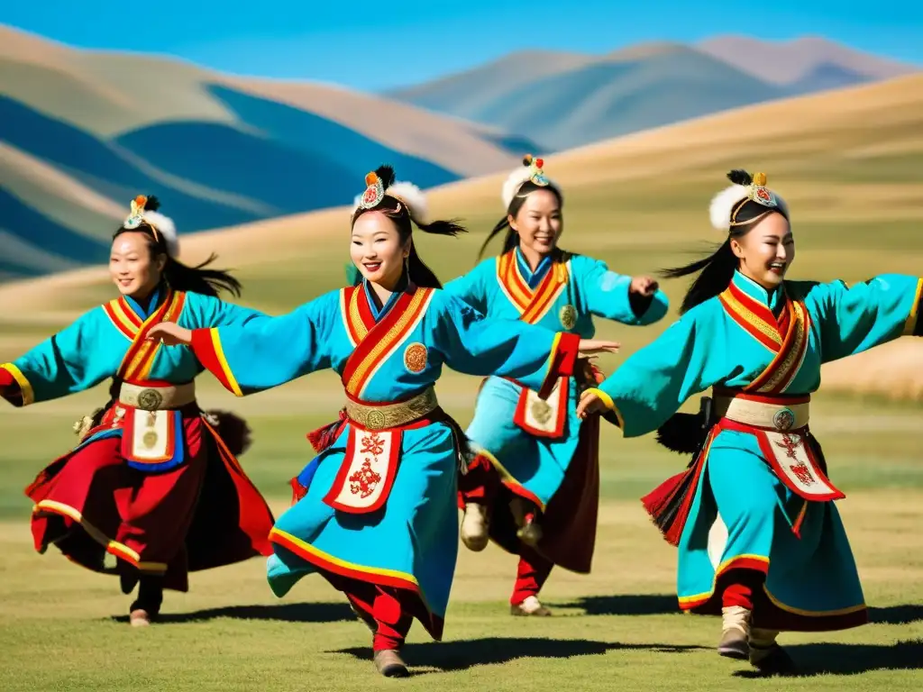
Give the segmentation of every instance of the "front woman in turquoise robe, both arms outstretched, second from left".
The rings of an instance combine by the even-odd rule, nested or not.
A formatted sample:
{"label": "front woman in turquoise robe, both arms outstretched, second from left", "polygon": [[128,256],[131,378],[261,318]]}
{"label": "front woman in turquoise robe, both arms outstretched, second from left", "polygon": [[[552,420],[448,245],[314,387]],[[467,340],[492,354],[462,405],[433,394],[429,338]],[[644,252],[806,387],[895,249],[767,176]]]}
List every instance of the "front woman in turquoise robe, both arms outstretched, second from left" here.
{"label": "front woman in turquoise robe, both arms outstretched, second from left", "polygon": [[395,183],[388,166],[366,184],[352,220],[354,285],[286,316],[158,333],[190,343],[238,396],[323,369],[341,376],[346,405],[340,420],[310,435],[319,454],[294,479],[296,502],[271,531],[268,579],[281,597],[308,574],[324,576],[372,629],[378,671],[398,676],[407,674],[398,651],[412,618],[442,637],[458,553],[464,445],[433,387],[443,365],[514,377],[547,396],[579,348],[605,343],[485,320],[439,289],[414,247],[414,224],[426,233],[463,229],[426,221],[422,193]]}

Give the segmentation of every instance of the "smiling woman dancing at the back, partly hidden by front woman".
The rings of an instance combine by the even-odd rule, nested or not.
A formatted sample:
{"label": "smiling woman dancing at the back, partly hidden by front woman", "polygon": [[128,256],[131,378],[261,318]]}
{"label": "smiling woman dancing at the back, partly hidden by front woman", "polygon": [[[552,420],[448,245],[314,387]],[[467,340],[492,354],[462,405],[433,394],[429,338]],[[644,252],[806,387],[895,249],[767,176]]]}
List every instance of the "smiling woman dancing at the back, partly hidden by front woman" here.
{"label": "smiling woman dancing at the back, partly hidden by front woman", "polygon": [[[617,274],[605,262],[557,247],[563,197],[543,165],[526,157],[503,187],[507,213],[485,241],[486,246],[506,230],[500,256],[450,281],[446,290],[488,317],[563,329],[584,339],[595,334],[593,316],[638,326],[661,319],[667,299],[653,280]],[[538,593],[555,565],[590,571],[599,505],[599,418],[581,422],[576,405],[581,388],[600,377],[581,361],[547,402],[502,376],[488,377],[478,393],[466,431],[478,456],[459,478],[462,542],[480,551],[489,536],[520,555],[511,614],[550,614]]]}

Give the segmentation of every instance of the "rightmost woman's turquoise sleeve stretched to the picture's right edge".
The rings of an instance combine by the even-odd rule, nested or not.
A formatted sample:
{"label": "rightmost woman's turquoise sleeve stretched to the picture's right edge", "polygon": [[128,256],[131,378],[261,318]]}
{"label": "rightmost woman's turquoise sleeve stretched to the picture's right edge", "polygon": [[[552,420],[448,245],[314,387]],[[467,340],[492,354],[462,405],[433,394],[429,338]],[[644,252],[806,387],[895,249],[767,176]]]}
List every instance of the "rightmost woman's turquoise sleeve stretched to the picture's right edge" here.
{"label": "rightmost woman's turquoise sleeve stretched to the picture's right edge", "polygon": [[821,359],[829,363],[868,351],[900,336],[923,336],[918,320],[923,281],[881,274],[847,287],[843,281],[815,285],[809,298],[820,306]]}

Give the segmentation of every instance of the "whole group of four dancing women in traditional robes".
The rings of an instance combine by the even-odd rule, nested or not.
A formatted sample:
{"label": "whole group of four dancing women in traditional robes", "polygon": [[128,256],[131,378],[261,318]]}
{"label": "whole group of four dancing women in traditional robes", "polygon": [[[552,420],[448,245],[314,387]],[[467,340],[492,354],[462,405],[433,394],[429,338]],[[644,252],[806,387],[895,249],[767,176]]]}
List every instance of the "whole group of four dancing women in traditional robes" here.
{"label": "whole group of four dancing women in traditional robes", "polygon": [[[923,334],[923,282],[785,280],[785,201],[765,175],[733,171],[711,205],[723,244],[667,272],[694,276],[679,318],[605,376],[593,357],[618,344],[593,339],[593,316],[648,325],[667,299],[650,277],[559,247],[564,197],[543,169],[526,157],[503,185],[485,241],[505,233],[500,254],[443,287],[414,232],[465,229],[431,220],[424,194],[379,167],[351,213],[350,285],[283,316],[222,301],[237,280],[214,257],[181,263],[156,198],[133,200],[110,258],[121,296],[0,364],[15,406],[112,380],[77,447],[26,490],[36,550],[137,586],[133,626],[156,619],[164,589],[187,591],[188,572],[267,555],[276,595],[322,575],[371,630],[378,672],[402,676],[414,618],[442,638],[459,507],[465,546],[520,557],[512,614],[550,614],[538,595],[554,566],[590,571],[603,419],[691,457],[643,503],[678,548],[679,607],[722,616],[721,655],[791,673],[779,632],[865,623],[810,393],[821,363]],[[485,377],[466,431],[439,406],[443,364]],[[309,435],[318,454],[275,519],[237,461],[246,424],[203,411],[194,380],[208,370],[246,396],[323,369],[345,404]],[[708,389],[700,413],[677,413]]]}

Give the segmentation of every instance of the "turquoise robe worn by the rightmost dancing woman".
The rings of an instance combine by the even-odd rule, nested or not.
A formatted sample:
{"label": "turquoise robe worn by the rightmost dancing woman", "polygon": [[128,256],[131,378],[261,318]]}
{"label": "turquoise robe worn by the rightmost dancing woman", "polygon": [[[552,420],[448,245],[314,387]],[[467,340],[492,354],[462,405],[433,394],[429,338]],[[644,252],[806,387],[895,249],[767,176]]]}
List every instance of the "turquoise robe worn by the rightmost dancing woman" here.
{"label": "turquoise robe worn by the rightmost dancing woman", "polygon": [[[767,388],[757,392],[809,395],[820,387],[822,363],[919,336],[920,289],[917,277],[887,274],[852,287],[785,281],[770,295],[736,273],[724,293],[689,310],[595,391],[629,437],[657,429],[707,388],[739,390],[759,380]],[[789,328],[782,328],[786,311]],[[782,342],[794,344],[794,357],[771,368],[777,354],[785,356]],[[680,606],[719,613],[723,587],[744,569],[764,575],[754,594],[754,626],[825,630],[866,622],[834,503],[795,495],[772,471],[756,435],[718,421],[710,440],[678,539]]]}

